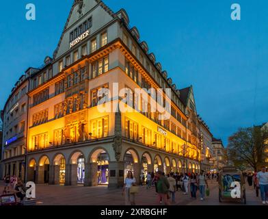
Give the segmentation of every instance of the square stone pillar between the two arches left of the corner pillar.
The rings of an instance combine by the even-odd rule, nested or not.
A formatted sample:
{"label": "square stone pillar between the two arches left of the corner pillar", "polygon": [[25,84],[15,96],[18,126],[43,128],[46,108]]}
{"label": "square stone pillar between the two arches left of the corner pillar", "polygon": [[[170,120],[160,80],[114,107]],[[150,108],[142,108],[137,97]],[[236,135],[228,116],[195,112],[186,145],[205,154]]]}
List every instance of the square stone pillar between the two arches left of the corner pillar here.
{"label": "square stone pillar between the two arches left of the corner pillar", "polygon": [[85,183],[84,186],[98,185],[98,164],[90,163],[85,165]]}

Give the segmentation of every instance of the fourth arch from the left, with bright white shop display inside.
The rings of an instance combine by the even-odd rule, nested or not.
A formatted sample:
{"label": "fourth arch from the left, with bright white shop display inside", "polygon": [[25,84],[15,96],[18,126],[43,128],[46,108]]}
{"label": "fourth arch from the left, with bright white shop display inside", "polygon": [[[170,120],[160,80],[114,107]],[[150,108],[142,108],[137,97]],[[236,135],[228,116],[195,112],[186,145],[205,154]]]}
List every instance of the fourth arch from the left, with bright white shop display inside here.
{"label": "fourth arch from the left, with bright white shop display inside", "polygon": [[70,164],[74,166],[73,170],[77,169],[77,183],[83,184],[85,182],[85,156],[81,151],[75,151],[70,156]]}

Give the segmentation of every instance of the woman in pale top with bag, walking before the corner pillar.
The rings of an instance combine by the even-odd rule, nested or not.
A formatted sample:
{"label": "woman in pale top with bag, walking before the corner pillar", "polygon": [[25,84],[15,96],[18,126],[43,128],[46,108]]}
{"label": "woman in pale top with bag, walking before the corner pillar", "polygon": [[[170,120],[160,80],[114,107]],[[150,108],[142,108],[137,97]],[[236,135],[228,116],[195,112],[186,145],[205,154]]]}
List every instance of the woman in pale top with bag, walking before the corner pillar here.
{"label": "woman in pale top with bag, walking before the corner pillar", "polygon": [[135,194],[137,194],[138,187],[135,185],[136,180],[131,171],[127,172],[124,180],[124,187],[122,195],[124,195],[125,205],[135,205]]}

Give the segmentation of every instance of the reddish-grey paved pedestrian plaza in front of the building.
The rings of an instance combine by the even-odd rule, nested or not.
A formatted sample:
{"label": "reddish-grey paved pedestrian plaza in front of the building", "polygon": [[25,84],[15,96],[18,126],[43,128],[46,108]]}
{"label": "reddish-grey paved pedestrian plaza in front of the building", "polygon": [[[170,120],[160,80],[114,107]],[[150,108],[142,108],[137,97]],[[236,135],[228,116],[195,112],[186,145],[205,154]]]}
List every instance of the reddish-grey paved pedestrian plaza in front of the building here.
{"label": "reddish-grey paved pedestrian plaza in front of the building", "polygon": [[[183,192],[176,192],[176,203],[174,205],[241,205],[238,201],[224,201],[219,203],[218,187],[216,181],[209,181],[211,194],[204,201],[200,201],[199,194],[196,200]],[[3,191],[3,181],[0,182],[0,192]],[[262,205],[257,198],[253,188],[247,186],[247,205]],[[157,203],[155,188],[146,190],[139,188],[136,196],[137,205],[160,205]],[[63,185],[36,185],[36,201],[38,205],[124,205],[122,190],[108,190],[106,186],[83,187]]]}

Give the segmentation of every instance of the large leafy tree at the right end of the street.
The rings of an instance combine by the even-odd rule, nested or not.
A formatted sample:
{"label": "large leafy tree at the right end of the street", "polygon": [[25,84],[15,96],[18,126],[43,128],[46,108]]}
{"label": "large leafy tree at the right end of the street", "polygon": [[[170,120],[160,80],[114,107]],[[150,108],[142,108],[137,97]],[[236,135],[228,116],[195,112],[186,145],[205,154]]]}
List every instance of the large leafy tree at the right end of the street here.
{"label": "large leafy tree at the right end of the street", "polygon": [[268,129],[260,126],[241,128],[228,139],[228,157],[235,166],[257,170],[265,164]]}

